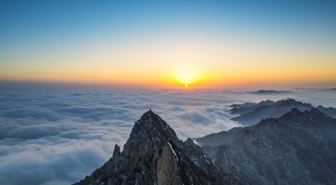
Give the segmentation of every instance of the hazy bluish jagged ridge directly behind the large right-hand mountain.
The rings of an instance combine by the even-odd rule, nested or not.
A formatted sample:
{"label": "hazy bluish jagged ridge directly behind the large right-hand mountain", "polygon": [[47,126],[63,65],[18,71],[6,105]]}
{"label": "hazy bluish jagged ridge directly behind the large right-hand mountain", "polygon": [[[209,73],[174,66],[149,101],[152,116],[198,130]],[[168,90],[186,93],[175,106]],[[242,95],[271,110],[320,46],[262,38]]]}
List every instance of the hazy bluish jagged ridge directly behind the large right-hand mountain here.
{"label": "hazy bluish jagged ridge directly behind the large right-hand mountain", "polygon": [[261,119],[280,117],[286,112],[291,111],[292,108],[298,108],[300,111],[305,111],[310,110],[313,106],[310,103],[302,103],[300,101],[295,101],[294,99],[279,100],[275,102],[274,105],[259,106],[253,111],[234,117],[231,120],[238,121],[244,125],[254,125]]}

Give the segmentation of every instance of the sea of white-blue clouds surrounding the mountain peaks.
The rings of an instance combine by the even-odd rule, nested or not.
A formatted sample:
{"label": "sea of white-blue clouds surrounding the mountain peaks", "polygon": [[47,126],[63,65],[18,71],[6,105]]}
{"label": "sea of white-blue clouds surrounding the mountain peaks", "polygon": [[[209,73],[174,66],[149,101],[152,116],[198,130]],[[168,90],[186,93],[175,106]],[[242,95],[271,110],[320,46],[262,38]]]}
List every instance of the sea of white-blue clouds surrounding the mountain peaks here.
{"label": "sea of white-blue clouds surrounding the mountain peaks", "polygon": [[149,109],[181,140],[243,126],[230,121],[233,103],[287,97],[336,107],[335,93],[295,90],[260,96],[248,89],[0,91],[2,185],[67,185],[83,179],[125,144]]}

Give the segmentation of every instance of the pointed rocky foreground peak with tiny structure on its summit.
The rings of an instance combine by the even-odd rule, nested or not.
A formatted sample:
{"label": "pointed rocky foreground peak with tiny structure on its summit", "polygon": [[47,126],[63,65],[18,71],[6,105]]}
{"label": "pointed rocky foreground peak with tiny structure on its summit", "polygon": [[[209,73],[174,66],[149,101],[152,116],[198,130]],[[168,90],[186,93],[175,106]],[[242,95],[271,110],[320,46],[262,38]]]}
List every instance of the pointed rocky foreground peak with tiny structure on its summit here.
{"label": "pointed rocky foreground peak with tiny structure on its summit", "polygon": [[132,128],[120,152],[74,185],[203,185],[243,184],[225,174],[216,162],[188,138],[180,141],[174,130],[152,111],[144,113]]}

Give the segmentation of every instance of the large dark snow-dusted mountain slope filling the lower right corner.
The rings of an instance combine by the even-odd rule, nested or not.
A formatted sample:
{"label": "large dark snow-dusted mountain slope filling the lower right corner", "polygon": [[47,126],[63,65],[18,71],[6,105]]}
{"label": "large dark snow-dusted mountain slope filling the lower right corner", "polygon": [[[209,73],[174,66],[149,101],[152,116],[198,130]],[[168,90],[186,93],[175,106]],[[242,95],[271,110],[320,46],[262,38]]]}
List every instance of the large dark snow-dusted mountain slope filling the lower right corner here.
{"label": "large dark snow-dusted mountain slope filling the lower right corner", "polygon": [[[336,119],[316,108],[293,108],[280,118],[239,129],[227,145],[202,149],[247,184],[335,185],[335,134]],[[216,139],[226,140],[222,135]]]}

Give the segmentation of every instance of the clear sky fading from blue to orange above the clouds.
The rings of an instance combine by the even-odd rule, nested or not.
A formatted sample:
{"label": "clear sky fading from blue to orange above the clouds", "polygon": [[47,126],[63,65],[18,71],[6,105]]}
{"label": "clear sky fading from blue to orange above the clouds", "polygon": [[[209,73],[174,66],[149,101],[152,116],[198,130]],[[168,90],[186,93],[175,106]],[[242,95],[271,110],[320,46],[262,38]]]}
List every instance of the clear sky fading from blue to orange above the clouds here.
{"label": "clear sky fading from blue to orange above the clouds", "polygon": [[336,1],[0,1],[0,80],[334,88]]}

